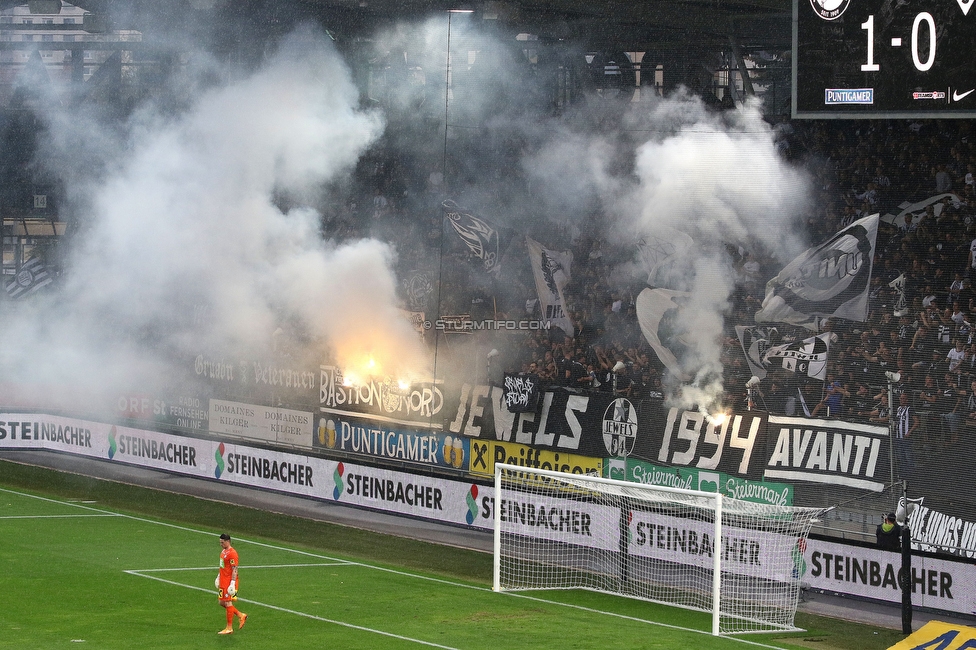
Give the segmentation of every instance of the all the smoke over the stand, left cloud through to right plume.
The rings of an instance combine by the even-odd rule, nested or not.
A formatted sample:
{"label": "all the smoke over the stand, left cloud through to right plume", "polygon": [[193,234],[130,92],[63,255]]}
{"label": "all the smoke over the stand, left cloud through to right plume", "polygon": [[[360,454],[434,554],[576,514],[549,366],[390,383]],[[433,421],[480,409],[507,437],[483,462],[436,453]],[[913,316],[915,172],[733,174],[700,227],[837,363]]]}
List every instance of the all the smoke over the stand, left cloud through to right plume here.
{"label": "all the smoke over the stand, left cloud through to right plume", "polygon": [[[452,198],[552,248],[586,231],[625,252],[614,288],[636,279],[686,292],[672,399],[721,406],[722,332],[738,281],[726,245],[781,259],[805,247],[796,226],[808,180],[782,160],[759,105],[718,113],[686,92],[645,88],[640,102],[591,96],[553,117],[529,61],[560,62],[461,15],[451,19],[445,97],[448,19],[376,35],[372,56],[389,67],[366,94],[383,113],[358,108],[362,89],[329,39],[305,29],[252,74],[198,53],[200,72],[170,88],[184,100],[171,92],[147,103],[121,130],[94,119],[79,129],[77,114],[55,121],[48,158],[65,161],[56,171],[85,231],[56,301],[12,318],[19,344],[4,365],[45,381],[140,384],[171,359],[266,350],[284,331],[309,358],[423,374],[427,354],[396,308],[394,246],[429,251],[431,228],[340,243],[321,232],[316,209],[328,200],[322,188],[348,179],[382,137],[414,179],[405,201],[421,214],[417,186],[444,169],[449,196],[427,208]],[[644,253],[671,247],[658,247],[649,269],[639,241]],[[497,283],[494,297],[524,305],[530,286]]]}

